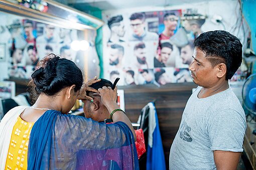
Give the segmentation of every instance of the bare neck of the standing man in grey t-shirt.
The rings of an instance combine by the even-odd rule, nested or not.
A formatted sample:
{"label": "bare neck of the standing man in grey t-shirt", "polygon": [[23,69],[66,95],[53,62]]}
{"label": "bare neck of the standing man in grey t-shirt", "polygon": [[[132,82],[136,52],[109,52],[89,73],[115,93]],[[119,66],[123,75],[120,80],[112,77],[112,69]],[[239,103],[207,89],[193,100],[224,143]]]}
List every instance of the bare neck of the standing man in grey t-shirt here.
{"label": "bare neck of the standing man in grey t-shirt", "polygon": [[198,98],[205,98],[217,94],[229,88],[228,80],[223,80],[212,87],[202,87],[198,93]]}

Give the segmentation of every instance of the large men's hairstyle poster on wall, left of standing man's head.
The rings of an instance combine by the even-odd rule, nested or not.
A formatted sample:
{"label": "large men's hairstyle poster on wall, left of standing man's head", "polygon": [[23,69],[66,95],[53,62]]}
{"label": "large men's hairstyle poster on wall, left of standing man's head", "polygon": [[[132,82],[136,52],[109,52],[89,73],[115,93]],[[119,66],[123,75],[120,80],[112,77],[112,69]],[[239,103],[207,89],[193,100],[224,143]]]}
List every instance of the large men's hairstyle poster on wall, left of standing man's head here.
{"label": "large men's hairstyle poster on wall, left of standing man's head", "polygon": [[120,77],[118,85],[192,82],[189,65],[195,38],[209,30],[229,31],[230,20],[237,20],[231,9],[220,6],[219,15],[214,10],[209,4],[163,11],[104,11],[104,78]]}

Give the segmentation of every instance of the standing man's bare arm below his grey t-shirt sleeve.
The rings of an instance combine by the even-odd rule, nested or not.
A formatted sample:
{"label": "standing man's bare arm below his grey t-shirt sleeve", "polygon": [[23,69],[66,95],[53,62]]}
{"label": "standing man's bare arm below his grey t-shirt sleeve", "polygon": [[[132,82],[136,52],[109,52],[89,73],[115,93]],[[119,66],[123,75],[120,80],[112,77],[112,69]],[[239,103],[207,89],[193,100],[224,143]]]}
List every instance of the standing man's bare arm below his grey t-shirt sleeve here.
{"label": "standing man's bare arm below his grey t-shirt sleeve", "polygon": [[213,157],[217,170],[237,169],[241,152],[214,150]]}

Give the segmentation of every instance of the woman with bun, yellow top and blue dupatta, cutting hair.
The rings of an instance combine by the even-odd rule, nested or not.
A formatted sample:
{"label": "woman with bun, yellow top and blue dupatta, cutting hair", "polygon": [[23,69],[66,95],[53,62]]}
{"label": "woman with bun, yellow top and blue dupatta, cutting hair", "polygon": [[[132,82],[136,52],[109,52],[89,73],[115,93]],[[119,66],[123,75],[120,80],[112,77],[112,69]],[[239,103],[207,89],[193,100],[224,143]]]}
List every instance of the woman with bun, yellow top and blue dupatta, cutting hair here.
{"label": "woman with bun, yellow top and blue dupatta, cutting hair", "polygon": [[[116,104],[117,89],[88,87],[97,81],[83,84],[77,65],[55,54],[39,61],[30,82],[36,102],[0,122],[0,169],[138,169],[136,135]],[[99,92],[115,123],[67,114],[78,96],[89,98],[85,90]]]}

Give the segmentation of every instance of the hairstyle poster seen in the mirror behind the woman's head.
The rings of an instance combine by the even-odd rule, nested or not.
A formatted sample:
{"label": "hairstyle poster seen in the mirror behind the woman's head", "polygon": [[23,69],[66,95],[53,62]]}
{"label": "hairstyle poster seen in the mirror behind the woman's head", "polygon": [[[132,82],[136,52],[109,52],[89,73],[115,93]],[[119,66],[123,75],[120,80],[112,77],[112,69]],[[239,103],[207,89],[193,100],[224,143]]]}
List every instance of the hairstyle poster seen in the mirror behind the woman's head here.
{"label": "hairstyle poster seen in the mirror behind the woman's head", "polygon": [[76,63],[82,58],[71,49],[71,42],[78,39],[79,30],[6,13],[2,13],[1,18],[0,42],[6,44],[9,77],[31,78],[38,61],[49,53],[60,54]]}

